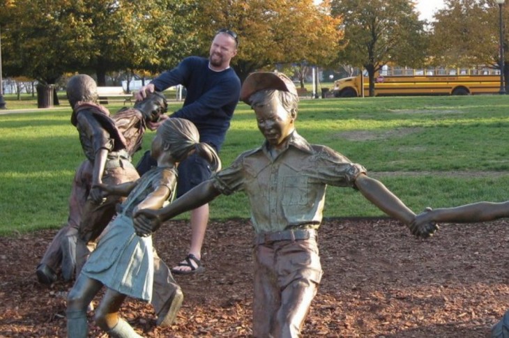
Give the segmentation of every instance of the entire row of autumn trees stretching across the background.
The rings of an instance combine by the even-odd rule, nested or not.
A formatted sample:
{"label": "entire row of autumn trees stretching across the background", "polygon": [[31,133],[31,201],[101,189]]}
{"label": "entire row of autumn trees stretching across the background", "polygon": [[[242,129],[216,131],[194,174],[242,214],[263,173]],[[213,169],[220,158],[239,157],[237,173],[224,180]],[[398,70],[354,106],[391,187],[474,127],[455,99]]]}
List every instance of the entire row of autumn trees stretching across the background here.
{"label": "entire row of autumn trees stretching across the background", "polygon": [[[155,75],[208,56],[217,29],[236,31],[232,65],[254,70],[498,64],[494,0],[446,0],[427,26],[411,0],[0,0],[3,77],[55,83],[66,72]],[[430,29],[426,29],[431,27]],[[509,70],[509,67],[506,67]],[[507,78],[507,76],[506,76]],[[303,85],[303,84],[301,84]]]}

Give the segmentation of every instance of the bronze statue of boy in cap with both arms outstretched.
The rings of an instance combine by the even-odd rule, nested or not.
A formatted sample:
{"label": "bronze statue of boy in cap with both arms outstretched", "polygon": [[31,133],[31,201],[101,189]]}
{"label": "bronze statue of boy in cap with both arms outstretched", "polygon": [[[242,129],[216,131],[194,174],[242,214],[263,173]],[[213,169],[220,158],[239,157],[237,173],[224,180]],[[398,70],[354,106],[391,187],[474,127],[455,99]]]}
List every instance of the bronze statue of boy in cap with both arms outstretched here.
{"label": "bronze statue of boy in cap with both arms outstretched", "polygon": [[[359,190],[375,206],[404,224],[415,214],[378,180],[327,146],[309,144],[295,130],[298,95],[291,80],[255,72],[244,82],[241,100],[254,109],[264,144],[238,156],[230,167],[160,210],[139,210],[140,236],[165,220],[220,194],[248,194],[254,227],[254,337],[300,337],[322,270],[317,233],[327,185]],[[434,224],[416,236],[427,237]]]}

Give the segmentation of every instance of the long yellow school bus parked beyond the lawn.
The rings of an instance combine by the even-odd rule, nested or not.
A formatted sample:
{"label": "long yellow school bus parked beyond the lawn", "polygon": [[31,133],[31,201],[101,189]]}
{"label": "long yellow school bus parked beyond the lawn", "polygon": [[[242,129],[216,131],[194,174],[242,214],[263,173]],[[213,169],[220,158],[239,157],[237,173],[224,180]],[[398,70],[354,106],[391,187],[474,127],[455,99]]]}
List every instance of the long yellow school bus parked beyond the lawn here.
{"label": "long yellow school bus parked beyond the lawn", "polygon": [[[474,95],[500,91],[500,70],[480,68],[406,68],[383,66],[375,74],[374,95]],[[369,96],[367,73],[334,82],[336,98]]]}

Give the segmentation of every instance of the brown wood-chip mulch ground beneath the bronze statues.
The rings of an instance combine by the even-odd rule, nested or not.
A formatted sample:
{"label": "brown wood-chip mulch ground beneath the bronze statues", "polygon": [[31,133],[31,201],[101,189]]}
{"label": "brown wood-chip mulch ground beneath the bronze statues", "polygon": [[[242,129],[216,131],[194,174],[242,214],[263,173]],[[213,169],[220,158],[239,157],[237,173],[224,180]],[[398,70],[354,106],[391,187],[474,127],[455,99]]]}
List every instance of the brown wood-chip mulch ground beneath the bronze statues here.
{"label": "brown wood-chip mulch ground beneath the bronze statues", "polygon": [[[38,284],[36,265],[56,231],[0,238],[0,337],[65,337],[70,284]],[[488,337],[509,309],[509,224],[443,224],[429,240],[392,220],[326,220],[319,231],[324,278],[304,337]],[[121,315],[144,337],[251,337],[252,229],[211,222],[206,270],[176,276],[185,294],[177,322],[155,326],[151,305],[128,298]],[[174,265],[190,227],[155,235]],[[90,337],[107,337],[89,317]]]}

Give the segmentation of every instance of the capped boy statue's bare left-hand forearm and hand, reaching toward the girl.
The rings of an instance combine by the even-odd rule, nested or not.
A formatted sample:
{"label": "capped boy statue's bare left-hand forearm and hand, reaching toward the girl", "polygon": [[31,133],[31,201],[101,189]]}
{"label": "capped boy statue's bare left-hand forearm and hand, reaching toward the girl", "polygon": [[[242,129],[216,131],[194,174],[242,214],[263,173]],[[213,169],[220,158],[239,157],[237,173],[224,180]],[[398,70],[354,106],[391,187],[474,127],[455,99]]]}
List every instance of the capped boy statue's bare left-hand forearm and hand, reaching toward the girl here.
{"label": "capped boy statue's bare left-hand forearm and hand, reaching toward the girl", "polygon": [[138,236],[148,236],[165,222],[185,211],[198,208],[218,197],[220,192],[214,187],[213,180],[206,180],[189,192],[183,194],[173,203],[159,210],[138,210],[133,217],[135,231]]}

